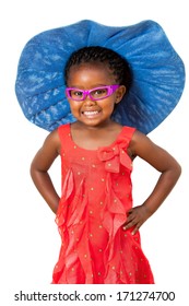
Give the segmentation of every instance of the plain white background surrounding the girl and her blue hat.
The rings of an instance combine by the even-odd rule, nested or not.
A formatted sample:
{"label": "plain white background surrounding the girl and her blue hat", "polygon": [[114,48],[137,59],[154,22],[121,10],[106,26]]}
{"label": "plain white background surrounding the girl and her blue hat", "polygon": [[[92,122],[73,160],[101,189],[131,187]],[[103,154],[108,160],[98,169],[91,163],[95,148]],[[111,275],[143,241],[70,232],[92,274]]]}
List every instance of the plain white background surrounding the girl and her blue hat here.
{"label": "plain white background surrounding the girl and her blue hat", "polygon": [[[165,30],[182,58],[186,70],[189,66],[189,19],[185,0],[1,1],[0,282],[2,292],[9,298],[17,290],[48,286],[60,247],[55,216],[29,177],[31,161],[47,132],[25,119],[16,101],[14,83],[19,58],[26,42],[34,35],[83,19],[113,26],[154,20]],[[189,273],[187,93],[188,83],[172,115],[149,134],[179,161],[182,175],[161,209],[141,228],[142,247],[151,262],[157,286],[179,291],[182,297]],[[51,175],[59,189],[59,161],[55,163]],[[134,162],[135,204],[142,203],[149,196],[156,179],[157,174],[147,164]],[[14,305],[11,301],[9,305]]]}

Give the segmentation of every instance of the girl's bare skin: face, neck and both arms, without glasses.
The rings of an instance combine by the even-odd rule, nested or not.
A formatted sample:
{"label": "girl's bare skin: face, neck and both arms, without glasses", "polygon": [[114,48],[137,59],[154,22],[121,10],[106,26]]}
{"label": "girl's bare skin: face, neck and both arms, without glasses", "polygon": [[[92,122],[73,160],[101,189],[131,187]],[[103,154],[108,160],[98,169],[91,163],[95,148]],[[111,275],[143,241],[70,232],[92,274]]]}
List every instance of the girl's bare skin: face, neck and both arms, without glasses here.
{"label": "girl's bare skin: face, neck and both arms, without glasses", "polygon": [[[99,85],[116,84],[115,76],[105,64],[81,64],[70,69],[68,86],[90,90]],[[120,86],[111,96],[103,101],[75,103],[69,99],[76,121],[71,125],[73,141],[83,149],[96,150],[110,145],[120,133],[122,126],[114,122],[110,115],[115,104],[119,103],[127,92]],[[31,165],[34,184],[52,212],[57,212],[60,197],[49,176],[49,168],[60,154],[60,139],[55,130],[46,138],[43,146]],[[133,228],[135,234],[141,225],[161,207],[177,183],[181,168],[177,161],[164,149],[153,143],[145,134],[135,131],[128,148],[131,160],[137,156],[147,162],[160,173],[160,178],[147,199],[128,211],[122,228]]]}

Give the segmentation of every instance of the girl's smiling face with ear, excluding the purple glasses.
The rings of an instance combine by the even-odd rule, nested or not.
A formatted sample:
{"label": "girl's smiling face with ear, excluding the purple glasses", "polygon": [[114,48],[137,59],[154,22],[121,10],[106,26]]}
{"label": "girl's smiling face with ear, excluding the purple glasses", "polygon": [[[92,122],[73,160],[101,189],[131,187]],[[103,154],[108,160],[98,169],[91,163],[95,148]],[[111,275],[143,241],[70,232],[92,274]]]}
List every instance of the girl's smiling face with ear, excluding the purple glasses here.
{"label": "girl's smiling face with ear, excluding the purple glasses", "polygon": [[[116,84],[113,72],[105,63],[81,63],[70,68],[68,87],[92,90],[105,85]],[[126,87],[119,86],[110,96],[92,101],[87,95],[84,101],[73,101],[68,97],[70,108],[78,121],[87,127],[106,126],[110,121],[115,104],[118,104]]]}

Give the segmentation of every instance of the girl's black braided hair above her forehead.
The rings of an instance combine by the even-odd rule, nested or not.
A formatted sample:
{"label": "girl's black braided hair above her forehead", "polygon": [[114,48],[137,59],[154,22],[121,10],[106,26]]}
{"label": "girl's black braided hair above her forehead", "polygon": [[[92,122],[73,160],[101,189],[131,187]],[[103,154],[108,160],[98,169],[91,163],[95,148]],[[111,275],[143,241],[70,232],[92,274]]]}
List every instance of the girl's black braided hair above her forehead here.
{"label": "girl's black braided hair above her forehead", "polygon": [[116,51],[99,46],[84,47],[74,51],[70,56],[64,68],[66,84],[68,82],[70,68],[72,66],[79,66],[84,62],[107,63],[109,69],[113,71],[113,74],[116,78],[116,82],[119,85],[125,85],[127,87],[127,92],[129,91],[132,83],[132,74],[129,68],[129,63],[125,58],[122,58]]}

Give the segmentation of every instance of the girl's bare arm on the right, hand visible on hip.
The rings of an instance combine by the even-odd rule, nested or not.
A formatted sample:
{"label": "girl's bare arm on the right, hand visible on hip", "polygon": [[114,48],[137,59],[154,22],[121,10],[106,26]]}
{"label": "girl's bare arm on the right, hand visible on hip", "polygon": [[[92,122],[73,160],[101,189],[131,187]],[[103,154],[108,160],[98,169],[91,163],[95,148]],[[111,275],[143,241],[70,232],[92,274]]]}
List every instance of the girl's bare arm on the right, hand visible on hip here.
{"label": "girl's bare arm on the right, hand visible on hip", "polygon": [[134,226],[134,234],[170,193],[181,174],[181,167],[168,152],[139,131],[133,134],[129,152],[133,156],[141,157],[161,173],[152,193],[144,203],[128,212],[123,229]]}

